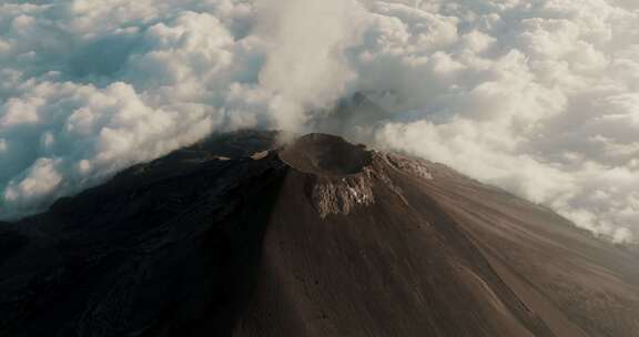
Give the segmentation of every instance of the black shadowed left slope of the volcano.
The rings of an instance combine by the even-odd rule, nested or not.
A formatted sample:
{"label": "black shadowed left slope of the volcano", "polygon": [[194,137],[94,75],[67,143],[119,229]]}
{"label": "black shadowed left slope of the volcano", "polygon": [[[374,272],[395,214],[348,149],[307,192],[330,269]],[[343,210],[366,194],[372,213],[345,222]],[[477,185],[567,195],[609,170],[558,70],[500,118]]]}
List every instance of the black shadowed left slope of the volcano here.
{"label": "black shadowed left slope of the volcano", "polygon": [[0,336],[231,335],[286,171],[275,154],[216,159],[233,143],[178,151],[0,224]]}

